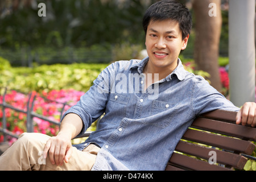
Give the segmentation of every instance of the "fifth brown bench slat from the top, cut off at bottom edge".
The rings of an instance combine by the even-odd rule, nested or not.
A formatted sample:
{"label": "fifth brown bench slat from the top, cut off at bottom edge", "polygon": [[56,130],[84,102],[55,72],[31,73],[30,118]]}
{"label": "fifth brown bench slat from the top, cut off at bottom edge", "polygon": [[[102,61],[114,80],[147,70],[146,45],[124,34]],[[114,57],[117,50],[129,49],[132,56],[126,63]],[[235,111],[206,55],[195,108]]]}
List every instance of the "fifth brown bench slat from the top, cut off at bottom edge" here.
{"label": "fifth brown bench slat from the top, cut off at bottom edge", "polygon": [[174,166],[181,166],[196,171],[230,171],[231,169],[209,164],[208,162],[174,153],[169,161]]}

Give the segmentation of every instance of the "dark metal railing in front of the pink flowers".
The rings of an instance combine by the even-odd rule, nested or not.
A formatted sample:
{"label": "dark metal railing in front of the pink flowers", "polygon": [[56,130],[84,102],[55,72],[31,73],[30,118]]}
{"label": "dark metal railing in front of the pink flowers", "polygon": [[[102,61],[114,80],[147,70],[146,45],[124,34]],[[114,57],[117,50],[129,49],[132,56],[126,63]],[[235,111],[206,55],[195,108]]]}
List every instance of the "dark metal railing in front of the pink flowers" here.
{"label": "dark metal railing in front of the pink flowers", "polygon": [[[41,115],[41,114],[38,114],[38,113],[35,113],[33,111],[36,97],[41,97],[44,100],[51,101],[48,98],[44,98],[42,96],[39,96],[38,94],[29,93],[26,108],[20,109],[20,108],[14,107],[13,105],[10,105],[6,102],[7,88],[2,88],[2,89],[4,89],[4,92],[3,92],[3,97],[2,97],[2,103],[0,103],[0,106],[2,106],[2,127],[0,127],[0,133],[3,133],[4,142],[6,142],[6,140],[7,140],[7,138],[6,138],[7,135],[9,135],[11,137],[14,137],[14,138],[19,137],[18,135],[16,135],[16,134],[12,133],[11,131],[7,130],[7,117],[6,117],[6,112],[5,112],[6,108],[9,108],[11,110],[15,110],[15,111],[20,112],[20,113],[27,114],[26,128],[27,128],[28,133],[34,132],[34,124],[33,124],[33,118],[34,117],[40,118],[44,121],[47,121],[47,122],[53,123],[54,125],[60,126],[60,122],[49,119],[48,117],[46,117],[44,115]],[[57,101],[52,101],[52,102],[55,102],[56,104],[63,105],[63,107],[60,111],[60,118],[61,118],[63,116],[64,108],[68,104],[67,103],[62,103],[62,102],[57,102]]]}

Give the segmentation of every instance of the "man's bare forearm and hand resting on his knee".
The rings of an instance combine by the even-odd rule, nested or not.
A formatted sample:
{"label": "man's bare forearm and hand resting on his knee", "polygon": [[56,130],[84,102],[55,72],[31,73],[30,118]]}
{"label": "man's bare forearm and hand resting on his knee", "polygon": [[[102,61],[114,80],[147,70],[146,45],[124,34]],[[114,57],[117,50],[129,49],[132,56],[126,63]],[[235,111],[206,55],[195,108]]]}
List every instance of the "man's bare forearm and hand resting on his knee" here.
{"label": "man's bare forearm and hand resting on his knee", "polygon": [[52,164],[61,166],[63,161],[68,163],[72,154],[71,139],[75,138],[82,130],[82,119],[77,114],[67,114],[60,125],[59,134],[56,137],[51,137],[44,147],[43,157],[49,159]]}

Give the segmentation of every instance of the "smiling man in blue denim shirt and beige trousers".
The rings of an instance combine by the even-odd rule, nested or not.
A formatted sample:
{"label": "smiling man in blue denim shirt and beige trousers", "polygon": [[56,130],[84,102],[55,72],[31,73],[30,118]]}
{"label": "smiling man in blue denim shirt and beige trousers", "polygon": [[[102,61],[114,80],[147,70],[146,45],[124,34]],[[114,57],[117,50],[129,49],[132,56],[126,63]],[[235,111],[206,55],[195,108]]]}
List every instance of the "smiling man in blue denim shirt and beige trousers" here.
{"label": "smiling man in blue denim shirt and beige trousers", "polygon": [[[143,27],[148,57],[109,65],[64,114],[56,137],[23,134],[1,156],[0,169],[164,170],[198,114],[238,111],[237,124],[256,125],[255,103],[240,110],[204,78],[184,70],[178,56],[192,27],[187,8],[156,2]],[[72,147],[71,139],[104,113],[97,131]]]}

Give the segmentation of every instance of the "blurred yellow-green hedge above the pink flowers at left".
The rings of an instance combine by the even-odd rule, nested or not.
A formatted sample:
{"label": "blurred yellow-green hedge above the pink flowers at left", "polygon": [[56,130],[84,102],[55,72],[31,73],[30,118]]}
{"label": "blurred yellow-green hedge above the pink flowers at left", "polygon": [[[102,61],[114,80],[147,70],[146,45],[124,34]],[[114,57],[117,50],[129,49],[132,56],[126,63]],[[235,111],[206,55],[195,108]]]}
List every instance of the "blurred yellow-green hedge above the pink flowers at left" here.
{"label": "blurred yellow-green hedge above the pink flowers at left", "polygon": [[3,69],[0,86],[21,92],[75,89],[86,92],[108,64],[55,64]]}

